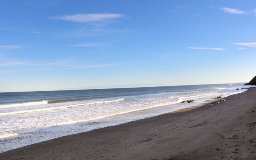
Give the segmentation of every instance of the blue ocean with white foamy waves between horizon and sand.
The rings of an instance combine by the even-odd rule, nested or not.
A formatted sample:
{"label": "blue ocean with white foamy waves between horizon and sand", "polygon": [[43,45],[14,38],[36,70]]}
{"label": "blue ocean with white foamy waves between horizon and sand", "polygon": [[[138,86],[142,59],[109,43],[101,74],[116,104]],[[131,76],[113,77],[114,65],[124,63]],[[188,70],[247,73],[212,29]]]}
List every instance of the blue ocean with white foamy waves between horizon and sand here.
{"label": "blue ocean with white foamy waves between horizon and sand", "polygon": [[[236,83],[0,93],[0,152],[197,106],[248,87]],[[195,101],[181,103],[188,99]]]}

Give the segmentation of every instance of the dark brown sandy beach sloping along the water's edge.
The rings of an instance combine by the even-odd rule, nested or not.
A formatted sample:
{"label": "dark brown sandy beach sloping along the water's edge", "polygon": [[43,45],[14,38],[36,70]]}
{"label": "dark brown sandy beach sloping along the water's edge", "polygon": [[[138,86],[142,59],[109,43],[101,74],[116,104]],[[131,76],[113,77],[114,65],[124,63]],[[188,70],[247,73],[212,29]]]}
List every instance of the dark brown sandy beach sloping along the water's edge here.
{"label": "dark brown sandy beach sloping along the water's edge", "polygon": [[0,160],[255,160],[256,88],[216,105],[64,136]]}

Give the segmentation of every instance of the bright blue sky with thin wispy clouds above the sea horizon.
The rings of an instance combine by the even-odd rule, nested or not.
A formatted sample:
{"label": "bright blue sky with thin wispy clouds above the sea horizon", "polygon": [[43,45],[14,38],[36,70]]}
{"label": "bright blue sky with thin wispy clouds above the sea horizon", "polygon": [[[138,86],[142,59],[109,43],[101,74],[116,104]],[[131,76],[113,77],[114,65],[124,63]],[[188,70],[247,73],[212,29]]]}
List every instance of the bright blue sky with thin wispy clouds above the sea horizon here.
{"label": "bright blue sky with thin wispy clouds above the sea horizon", "polygon": [[255,0],[1,0],[0,92],[248,82]]}

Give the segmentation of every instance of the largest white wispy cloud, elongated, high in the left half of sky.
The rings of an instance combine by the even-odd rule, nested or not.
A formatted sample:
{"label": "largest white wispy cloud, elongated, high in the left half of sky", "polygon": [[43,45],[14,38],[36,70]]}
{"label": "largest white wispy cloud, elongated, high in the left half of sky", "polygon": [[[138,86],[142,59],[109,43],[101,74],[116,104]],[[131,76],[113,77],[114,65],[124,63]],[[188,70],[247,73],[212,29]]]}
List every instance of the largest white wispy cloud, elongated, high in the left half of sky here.
{"label": "largest white wispy cloud, elongated, high in the left half of sky", "polygon": [[123,14],[112,14],[112,13],[97,13],[97,14],[73,14],[64,16],[50,17],[58,20],[66,20],[73,22],[100,22],[105,20],[112,20],[123,17]]}

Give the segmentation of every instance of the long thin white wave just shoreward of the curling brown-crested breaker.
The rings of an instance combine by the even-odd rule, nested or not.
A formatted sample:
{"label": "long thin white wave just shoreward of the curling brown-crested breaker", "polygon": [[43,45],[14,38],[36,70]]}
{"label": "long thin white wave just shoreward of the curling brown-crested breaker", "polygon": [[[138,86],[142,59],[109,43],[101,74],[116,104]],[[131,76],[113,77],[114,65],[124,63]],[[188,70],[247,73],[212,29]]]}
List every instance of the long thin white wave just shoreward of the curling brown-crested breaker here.
{"label": "long thin white wave just shoreward of the curling brown-crested breaker", "polygon": [[14,111],[14,112],[0,113],[0,116],[6,116],[6,115],[12,115],[12,114],[32,113],[32,112],[44,112],[44,111],[50,111],[50,110],[61,110],[61,109],[67,109],[67,108],[72,108],[72,107],[91,106],[91,105],[97,105],[97,104],[106,104],[106,103],[120,102],[120,101],[123,101],[123,100],[124,100],[124,98],[117,99],[117,100],[91,102],[91,103],[85,103],[85,104],[74,104],[74,105],[69,105],[69,106],[39,108],[39,109],[34,109],[34,110],[20,110],[20,111]]}

